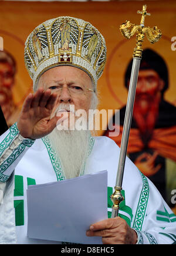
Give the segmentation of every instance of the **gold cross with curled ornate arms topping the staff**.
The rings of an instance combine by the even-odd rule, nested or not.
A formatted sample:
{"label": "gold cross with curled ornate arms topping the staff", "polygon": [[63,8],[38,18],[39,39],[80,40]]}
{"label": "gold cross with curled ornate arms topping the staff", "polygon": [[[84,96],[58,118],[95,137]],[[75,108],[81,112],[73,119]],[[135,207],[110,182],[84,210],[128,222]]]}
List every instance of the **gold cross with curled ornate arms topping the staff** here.
{"label": "gold cross with curled ornate arms topping the staff", "polygon": [[161,38],[161,31],[154,26],[153,28],[145,27],[144,20],[146,15],[150,15],[146,11],[147,5],[143,5],[143,11],[137,11],[137,14],[142,14],[140,25],[132,24],[130,21],[126,21],[120,25],[121,33],[127,38],[130,39],[131,36],[136,34],[136,48],[134,48],[133,58],[140,58],[142,56],[143,49],[141,48],[142,42],[144,41],[145,35],[147,36],[148,41],[151,44],[158,42]]}

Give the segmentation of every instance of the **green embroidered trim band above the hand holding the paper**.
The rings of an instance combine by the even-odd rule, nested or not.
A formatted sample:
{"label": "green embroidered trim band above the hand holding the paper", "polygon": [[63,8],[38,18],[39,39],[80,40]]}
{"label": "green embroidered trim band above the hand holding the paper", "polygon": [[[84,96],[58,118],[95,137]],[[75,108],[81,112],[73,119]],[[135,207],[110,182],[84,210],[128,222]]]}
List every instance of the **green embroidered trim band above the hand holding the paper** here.
{"label": "green embroidered trim band above the hand holding the paper", "polygon": [[133,228],[136,230],[141,230],[143,226],[143,221],[145,217],[145,211],[147,208],[148,196],[149,196],[149,185],[147,178],[140,172],[141,178],[143,180],[143,188],[141,190],[140,200],[138,201],[138,206],[136,210],[136,216],[134,218]]}

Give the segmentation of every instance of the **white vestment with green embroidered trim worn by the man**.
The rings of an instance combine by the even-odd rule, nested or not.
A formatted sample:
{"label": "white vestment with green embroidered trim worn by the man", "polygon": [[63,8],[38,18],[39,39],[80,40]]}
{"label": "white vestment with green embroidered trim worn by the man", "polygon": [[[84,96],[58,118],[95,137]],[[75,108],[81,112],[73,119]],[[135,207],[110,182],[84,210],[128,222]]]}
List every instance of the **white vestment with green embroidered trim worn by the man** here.
{"label": "white vestment with green embroidered trim worn by the man", "polygon": [[[111,139],[90,137],[87,160],[81,170],[81,175],[107,170],[109,215],[111,212],[109,196],[116,185],[119,153],[119,147]],[[65,178],[59,158],[51,147],[48,137],[36,140],[24,139],[19,135],[18,128],[14,124],[0,137],[0,157],[0,192],[1,194],[3,192],[4,196],[0,204],[0,243],[60,243],[27,237],[28,185],[59,182]],[[153,183],[141,174],[128,157],[122,188],[124,201],[120,204],[119,216],[137,231],[138,244],[174,243],[175,215]],[[45,198],[43,203],[45,204]]]}

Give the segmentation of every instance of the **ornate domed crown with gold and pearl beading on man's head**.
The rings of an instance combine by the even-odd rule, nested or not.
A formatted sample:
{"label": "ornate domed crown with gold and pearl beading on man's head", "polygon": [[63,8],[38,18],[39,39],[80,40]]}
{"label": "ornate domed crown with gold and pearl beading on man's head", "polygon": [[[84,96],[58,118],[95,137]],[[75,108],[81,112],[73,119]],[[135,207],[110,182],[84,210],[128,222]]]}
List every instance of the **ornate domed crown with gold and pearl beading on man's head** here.
{"label": "ornate domed crown with gold and pearl beading on man's head", "polygon": [[106,43],[100,32],[82,19],[62,16],[43,22],[25,42],[25,65],[36,91],[40,76],[52,67],[83,69],[93,81],[103,73]]}

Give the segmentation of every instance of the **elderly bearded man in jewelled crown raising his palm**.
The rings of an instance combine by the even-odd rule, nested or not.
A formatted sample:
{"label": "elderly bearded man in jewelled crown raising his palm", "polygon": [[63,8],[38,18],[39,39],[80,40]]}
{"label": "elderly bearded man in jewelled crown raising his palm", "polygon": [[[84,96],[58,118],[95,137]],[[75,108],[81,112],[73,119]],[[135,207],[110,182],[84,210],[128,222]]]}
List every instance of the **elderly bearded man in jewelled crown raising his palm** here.
{"label": "elderly bearded man in jewelled crown raising his palm", "polygon": [[[62,49],[60,36],[60,26],[65,20],[70,25],[67,50]],[[95,32],[96,45],[87,59],[89,42]],[[33,79],[34,94],[26,98],[17,124],[1,136],[1,189],[4,188],[1,243],[55,243],[27,237],[26,188],[29,184],[59,181],[107,169],[111,194],[119,147],[109,138],[93,138],[89,131],[57,131],[56,128],[57,121],[60,122],[57,111],[69,112],[70,105],[74,105],[76,111],[88,112],[96,108],[96,84],[105,62],[103,36],[81,19],[51,19],[28,36],[25,64]],[[100,236],[104,244],[173,243],[175,215],[154,185],[128,158],[123,189],[125,200],[120,217],[92,224],[90,230],[85,231],[87,236]]]}

